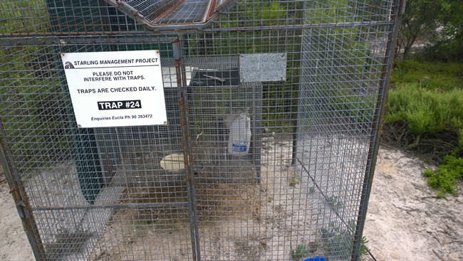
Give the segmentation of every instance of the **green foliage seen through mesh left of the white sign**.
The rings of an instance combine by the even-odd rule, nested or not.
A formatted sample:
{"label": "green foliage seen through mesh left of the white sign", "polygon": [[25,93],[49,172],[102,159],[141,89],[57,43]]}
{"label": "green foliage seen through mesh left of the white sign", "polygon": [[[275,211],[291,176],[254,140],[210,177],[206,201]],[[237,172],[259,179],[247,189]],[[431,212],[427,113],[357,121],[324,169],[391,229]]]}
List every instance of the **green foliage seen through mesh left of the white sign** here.
{"label": "green foliage seen through mesh left of the white sign", "polygon": [[[45,1],[8,1],[0,34],[48,32]],[[0,50],[1,117],[19,168],[51,161],[52,155],[69,154],[69,97],[63,94],[51,46],[4,46]],[[68,110],[69,109],[69,110]],[[58,112],[59,111],[59,112]]]}

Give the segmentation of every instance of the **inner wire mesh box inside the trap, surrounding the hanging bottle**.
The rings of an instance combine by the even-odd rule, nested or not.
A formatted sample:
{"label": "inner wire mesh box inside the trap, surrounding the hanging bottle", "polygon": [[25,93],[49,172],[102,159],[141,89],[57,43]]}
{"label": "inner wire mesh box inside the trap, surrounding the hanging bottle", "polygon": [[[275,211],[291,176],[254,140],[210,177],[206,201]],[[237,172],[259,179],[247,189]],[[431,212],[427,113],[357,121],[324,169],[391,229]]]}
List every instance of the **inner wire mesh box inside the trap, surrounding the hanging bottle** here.
{"label": "inner wire mesh box inside the trap, surrounding the hanging bottle", "polygon": [[[190,62],[192,62],[190,60]],[[167,126],[96,128],[100,168],[105,182],[118,179],[132,186],[160,186],[184,181],[182,171],[162,168],[166,156],[182,154],[177,76],[172,61],[163,61]],[[196,66],[196,65],[194,65]],[[187,66],[193,166],[199,183],[259,183],[261,162],[262,85],[241,83],[239,70]],[[249,100],[252,95],[253,100]],[[251,144],[245,156],[229,154],[227,118],[246,113],[251,119]],[[140,142],[145,141],[145,142]],[[173,152],[174,154],[172,154]],[[136,154],[132,158],[132,154]]]}

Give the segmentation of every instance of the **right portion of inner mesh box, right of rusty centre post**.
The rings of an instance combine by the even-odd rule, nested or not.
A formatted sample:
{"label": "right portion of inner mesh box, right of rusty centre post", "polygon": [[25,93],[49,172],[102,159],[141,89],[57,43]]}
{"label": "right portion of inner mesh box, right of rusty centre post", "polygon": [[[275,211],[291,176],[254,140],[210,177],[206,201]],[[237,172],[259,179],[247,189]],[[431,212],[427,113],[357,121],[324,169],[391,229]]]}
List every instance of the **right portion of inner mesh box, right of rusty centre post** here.
{"label": "right portion of inner mesh box, right of rusty centre post", "polygon": [[[259,183],[262,142],[262,85],[241,82],[239,69],[195,70],[188,87],[194,169],[199,183]],[[249,97],[253,97],[252,100]],[[230,154],[230,120],[251,122],[249,153]]]}

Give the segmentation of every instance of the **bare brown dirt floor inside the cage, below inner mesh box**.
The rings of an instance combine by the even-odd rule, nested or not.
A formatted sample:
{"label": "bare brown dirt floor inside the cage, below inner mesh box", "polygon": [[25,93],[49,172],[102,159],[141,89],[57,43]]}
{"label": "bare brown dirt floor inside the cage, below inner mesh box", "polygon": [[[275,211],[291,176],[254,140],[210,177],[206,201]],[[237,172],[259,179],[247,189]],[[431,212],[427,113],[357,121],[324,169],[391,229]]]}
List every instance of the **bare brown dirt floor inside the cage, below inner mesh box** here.
{"label": "bare brown dirt floor inside the cage, below inner mesh box", "polygon": [[[311,213],[302,207],[307,201],[300,184],[289,182],[293,169],[264,167],[261,174],[262,182],[252,185],[197,184],[195,206],[203,260],[287,259],[286,242],[308,243],[302,238],[307,237],[303,228]],[[151,205],[115,211],[102,238],[118,238],[122,244],[110,247],[107,241],[98,240],[90,260],[125,260],[132,255],[192,259],[187,197],[187,188],[182,186],[128,189],[120,201]]]}

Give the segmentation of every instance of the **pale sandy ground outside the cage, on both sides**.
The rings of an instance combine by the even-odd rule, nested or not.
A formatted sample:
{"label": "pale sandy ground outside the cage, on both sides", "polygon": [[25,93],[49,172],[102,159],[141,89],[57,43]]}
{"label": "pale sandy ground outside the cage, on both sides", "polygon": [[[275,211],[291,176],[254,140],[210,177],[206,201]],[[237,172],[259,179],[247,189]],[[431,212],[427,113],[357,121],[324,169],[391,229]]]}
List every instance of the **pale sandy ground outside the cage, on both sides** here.
{"label": "pale sandy ground outside the cage, on both sides", "polygon": [[[462,260],[463,187],[457,197],[435,198],[421,175],[425,166],[380,149],[364,232],[376,260]],[[3,174],[0,209],[0,260],[34,260]]]}

